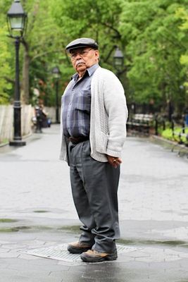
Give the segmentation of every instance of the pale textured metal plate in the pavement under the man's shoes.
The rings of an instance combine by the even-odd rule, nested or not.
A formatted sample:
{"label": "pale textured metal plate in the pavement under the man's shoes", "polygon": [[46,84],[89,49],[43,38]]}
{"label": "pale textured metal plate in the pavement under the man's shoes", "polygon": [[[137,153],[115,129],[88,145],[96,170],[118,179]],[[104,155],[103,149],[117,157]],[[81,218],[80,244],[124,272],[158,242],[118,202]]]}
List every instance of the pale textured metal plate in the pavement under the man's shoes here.
{"label": "pale textured metal plate in the pavement under the man's shoes", "polygon": [[[35,255],[37,257],[45,257],[49,259],[62,260],[64,262],[82,262],[80,255],[70,254],[67,250],[68,244],[61,244],[50,247],[40,247],[33,250],[23,251],[27,255]],[[124,245],[117,244],[118,255],[125,252],[134,252],[140,250],[139,247],[126,247]]]}

